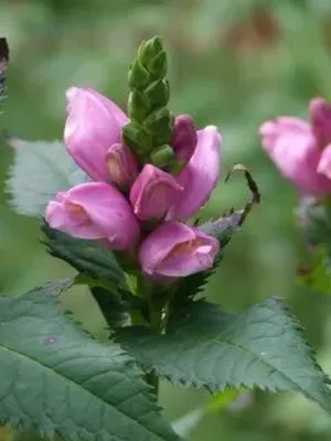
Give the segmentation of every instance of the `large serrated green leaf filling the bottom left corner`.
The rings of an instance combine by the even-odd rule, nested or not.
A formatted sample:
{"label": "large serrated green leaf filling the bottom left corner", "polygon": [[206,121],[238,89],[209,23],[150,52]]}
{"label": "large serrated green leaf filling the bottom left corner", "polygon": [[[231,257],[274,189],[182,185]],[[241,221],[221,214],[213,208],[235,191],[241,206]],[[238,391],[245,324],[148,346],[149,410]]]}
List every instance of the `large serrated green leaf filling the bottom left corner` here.
{"label": "large serrated green leaf filling the bottom left corner", "polygon": [[0,421],[68,440],[178,440],[134,361],[77,327],[44,289],[0,297]]}

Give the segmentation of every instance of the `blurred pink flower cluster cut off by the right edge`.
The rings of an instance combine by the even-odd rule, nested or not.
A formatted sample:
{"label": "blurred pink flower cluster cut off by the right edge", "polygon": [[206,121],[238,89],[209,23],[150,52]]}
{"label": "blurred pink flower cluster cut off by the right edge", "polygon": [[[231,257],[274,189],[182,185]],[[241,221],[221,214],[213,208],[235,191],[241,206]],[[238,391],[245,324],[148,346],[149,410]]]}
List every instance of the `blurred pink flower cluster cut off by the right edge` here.
{"label": "blurred pink flower cluster cut off by the right edge", "polygon": [[314,98],[310,121],[279,117],[260,126],[263,147],[281,174],[300,193],[323,197],[331,194],[331,104]]}

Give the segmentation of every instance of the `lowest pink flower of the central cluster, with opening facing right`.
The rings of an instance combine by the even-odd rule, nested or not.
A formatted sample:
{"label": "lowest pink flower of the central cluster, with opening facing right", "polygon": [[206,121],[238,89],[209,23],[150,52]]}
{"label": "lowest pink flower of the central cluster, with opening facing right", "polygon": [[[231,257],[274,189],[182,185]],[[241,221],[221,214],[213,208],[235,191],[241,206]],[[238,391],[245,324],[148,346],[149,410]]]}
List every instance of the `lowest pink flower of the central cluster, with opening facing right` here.
{"label": "lowest pink flower of the central cluster, with opening facing right", "polygon": [[214,237],[179,222],[166,222],[145,239],[139,261],[151,277],[186,277],[212,268],[218,251]]}

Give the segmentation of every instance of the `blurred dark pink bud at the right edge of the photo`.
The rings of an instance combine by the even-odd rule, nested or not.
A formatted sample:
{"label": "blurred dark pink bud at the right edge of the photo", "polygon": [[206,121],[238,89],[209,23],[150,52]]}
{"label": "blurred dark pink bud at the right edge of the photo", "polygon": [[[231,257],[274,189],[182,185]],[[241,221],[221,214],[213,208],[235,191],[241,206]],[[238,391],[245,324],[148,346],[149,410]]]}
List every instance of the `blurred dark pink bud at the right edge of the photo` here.
{"label": "blurred dark pink bud at the right edge of the photo", "polygon": [[313,135],[323,149],[331,142],[331,104],[324,98],[314,98],[309,104]]}

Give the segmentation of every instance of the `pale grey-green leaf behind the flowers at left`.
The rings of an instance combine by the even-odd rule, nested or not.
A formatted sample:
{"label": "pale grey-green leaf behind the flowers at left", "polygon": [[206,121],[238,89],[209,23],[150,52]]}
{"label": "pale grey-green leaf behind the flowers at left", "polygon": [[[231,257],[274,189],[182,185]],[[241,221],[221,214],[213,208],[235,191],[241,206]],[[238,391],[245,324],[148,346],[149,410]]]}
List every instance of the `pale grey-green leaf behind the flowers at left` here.
{"label": "pale grey-green leaf behind the flowers at left", "polygon": [[19,214],[43,216],[50,200],[87,180],[60,141],[9,140],[14,148],[14,164],[7,187]]}

